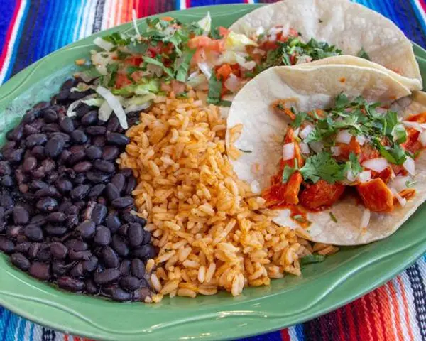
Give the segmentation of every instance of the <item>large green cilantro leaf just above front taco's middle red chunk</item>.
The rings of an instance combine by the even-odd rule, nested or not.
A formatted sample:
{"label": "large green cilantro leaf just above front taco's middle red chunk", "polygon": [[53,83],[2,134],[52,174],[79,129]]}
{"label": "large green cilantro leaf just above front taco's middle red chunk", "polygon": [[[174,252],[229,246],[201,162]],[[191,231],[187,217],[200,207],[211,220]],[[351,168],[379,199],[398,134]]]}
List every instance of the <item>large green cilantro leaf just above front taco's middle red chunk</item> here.
{"label": "large green cilantro leaf just above front taco's middle red chunk", "polygon": [[317,183],[320,179],[327,183],[335,183],[344,179],[343,167],[332,158],[330,153],[325,151],[307,158],[305,166],[300,168],[300,173],[305,180],[311,180],[312,183]]}

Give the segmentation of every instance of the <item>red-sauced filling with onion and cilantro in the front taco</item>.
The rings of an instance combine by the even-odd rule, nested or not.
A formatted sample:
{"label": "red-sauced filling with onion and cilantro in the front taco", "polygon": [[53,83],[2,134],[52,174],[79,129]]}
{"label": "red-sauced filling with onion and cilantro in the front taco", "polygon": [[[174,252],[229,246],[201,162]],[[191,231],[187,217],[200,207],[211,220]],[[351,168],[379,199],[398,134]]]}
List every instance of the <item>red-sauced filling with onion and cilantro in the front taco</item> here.
{"label": "red-sauced filling with onion and cilantro in the front taco", "polygon": [[[288,101],[287,101],[288,102]],[[279,171],[263,190],[268,207],[332,207],[351,190],[370,212],[393,212],[415,195],[415,158],[426,147],[426,112],[401,119],[380,103],[339,94],[332,109],[297,112],[271,104],[290,119]]]}

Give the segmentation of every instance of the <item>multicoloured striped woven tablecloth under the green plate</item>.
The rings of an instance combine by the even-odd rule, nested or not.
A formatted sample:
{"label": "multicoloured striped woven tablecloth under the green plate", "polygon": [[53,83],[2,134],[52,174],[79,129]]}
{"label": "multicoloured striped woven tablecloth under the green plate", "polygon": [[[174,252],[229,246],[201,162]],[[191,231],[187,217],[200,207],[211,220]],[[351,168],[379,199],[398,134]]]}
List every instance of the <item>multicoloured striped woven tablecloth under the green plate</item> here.
{"label": "multicoloured striped woven tablecloth under the green plate", "polygon": [[[130,21],[133,8],[138,17],[144,17],[190,6],[244,2],[257,1],[0,0],[0,84],[63,45]],[[411,40],[426,47],[425,0],[358,2],[388,16]],[[403,274],[343,308],[307,323],[244,340],[426,340],[425,282],[424,256]],[[0,341],[11,340],[83,339],[35,325],[0,306]]]}

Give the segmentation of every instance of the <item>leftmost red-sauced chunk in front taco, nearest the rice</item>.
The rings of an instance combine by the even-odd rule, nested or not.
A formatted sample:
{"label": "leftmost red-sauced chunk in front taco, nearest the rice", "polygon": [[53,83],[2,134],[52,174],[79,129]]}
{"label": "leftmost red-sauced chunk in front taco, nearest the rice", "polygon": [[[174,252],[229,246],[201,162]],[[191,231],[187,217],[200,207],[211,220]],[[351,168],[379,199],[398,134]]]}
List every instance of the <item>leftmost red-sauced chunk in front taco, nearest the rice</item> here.
{"label": "leftmost red-sauced chunk in front taco, nearest the rice", "polygon": [[277,183],[267,188],[262,193],[262,197],[266,200],[268,207],[279,207],[280,205],[297,205],[299,198],[297,195],[300,191],[300,185],[302,184],[302,175],[296,171],[287,183]]}

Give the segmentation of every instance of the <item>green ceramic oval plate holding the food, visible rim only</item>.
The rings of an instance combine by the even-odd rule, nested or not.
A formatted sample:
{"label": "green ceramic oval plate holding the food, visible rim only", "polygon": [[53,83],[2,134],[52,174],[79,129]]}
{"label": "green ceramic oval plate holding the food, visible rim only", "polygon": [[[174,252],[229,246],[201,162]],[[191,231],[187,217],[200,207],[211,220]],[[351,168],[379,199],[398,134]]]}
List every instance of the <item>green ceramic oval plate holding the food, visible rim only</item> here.
{"label": "green ceramic oval plate holding the food, visible rim only", "polygon": [[[229,26],[254,8],[212,6],[168,15],[189,22],[210,11],[215,26]],[[104,33],[129,29],[128,23]],[[25,109],[58,90],[75,69],[74,60],[87,57],[93,48],[94,36],[48,55],[0,88],[1,139]],[[426,79],[426,51],[416,46],[415,52]],[[220,340],[260,334],[334,310],[403,271],[426,251],[425,208],[381,242],[342,248],[323,263],[306,266],[300,278],[286,276],[236,298],[220,293],[165,298],[158,305],[113,303],[58,291],[13,269],[0,256],[0,304],[50,328],[103,340]]]}

